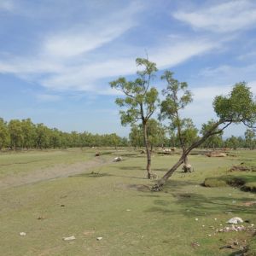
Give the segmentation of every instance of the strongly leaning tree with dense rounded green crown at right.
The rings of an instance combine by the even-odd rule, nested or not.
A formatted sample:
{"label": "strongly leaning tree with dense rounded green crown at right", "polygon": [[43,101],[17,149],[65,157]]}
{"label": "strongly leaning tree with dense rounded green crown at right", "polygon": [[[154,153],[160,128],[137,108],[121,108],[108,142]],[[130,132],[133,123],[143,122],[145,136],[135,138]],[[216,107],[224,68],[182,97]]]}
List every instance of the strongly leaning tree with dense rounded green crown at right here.
{"label": "strongly leaning tree with dense rounded green crown at right", "polygon": [[229,96],[216,96],[213,101],[213,108],[218,120],[208,128],[205,135],[196,140],[195,143],[192,143],[183,152],[177,163],[153,186],[152,190],[161,190],[167,179],[177,170],[177,167],[183,164],[186,155],[193,148],[199,147],[204,143],[208,137],[220,134],[231,124],[242,123],[252,128],[256,123],[256,102],[253,100],[253,93],[245,82],[235,84]]}

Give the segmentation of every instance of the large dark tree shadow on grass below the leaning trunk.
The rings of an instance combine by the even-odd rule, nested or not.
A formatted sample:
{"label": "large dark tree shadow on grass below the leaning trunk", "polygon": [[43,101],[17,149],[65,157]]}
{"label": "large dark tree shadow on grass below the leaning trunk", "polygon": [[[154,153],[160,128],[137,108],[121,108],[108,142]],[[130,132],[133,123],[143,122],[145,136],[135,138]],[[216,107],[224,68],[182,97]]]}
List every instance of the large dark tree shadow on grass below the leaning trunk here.
{"label": "large dark tree shadow on grass below the leaning trunk", "polygon": [[219,213],[232,213],[238,216],[239,214],[253,215],[256,212],[256,205],[251,207],[242,205],[246,201],[252,201],[252,198],[234,198],[228,195],[207,196],[203,191],[201,194],[181,191],[183,187],[195,184],[197,183],[175,180],[168,181],[163,192],[172,194],[174,201],[173,198],[170,199],[168,197],[164,197],[164,199],[156,199],[153,202],[154,206],[147,209],[146,212],[175,212],[188,217],[207,216]]}

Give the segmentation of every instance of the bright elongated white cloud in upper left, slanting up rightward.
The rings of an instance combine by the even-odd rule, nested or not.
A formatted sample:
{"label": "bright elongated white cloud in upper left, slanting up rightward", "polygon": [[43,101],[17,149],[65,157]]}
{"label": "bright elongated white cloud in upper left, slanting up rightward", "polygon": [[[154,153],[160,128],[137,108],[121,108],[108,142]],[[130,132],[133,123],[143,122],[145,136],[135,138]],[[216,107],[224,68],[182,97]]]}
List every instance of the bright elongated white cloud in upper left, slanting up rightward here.
{"label": "bright elongated white cloud in upper left, slanting up rightward", "polygon": [[[134,13],[136,12],[137,10],[134,10]],[[89,26],[77,26],[47,38],[43,44],[44,54],[59,58],[82,55],[119,38],[133,26],[136,26],[135,20],[131,17],[120,19],[119,15]]]}

